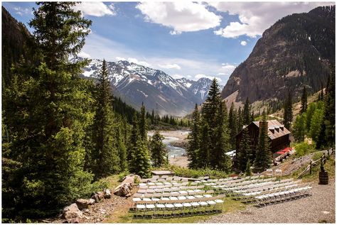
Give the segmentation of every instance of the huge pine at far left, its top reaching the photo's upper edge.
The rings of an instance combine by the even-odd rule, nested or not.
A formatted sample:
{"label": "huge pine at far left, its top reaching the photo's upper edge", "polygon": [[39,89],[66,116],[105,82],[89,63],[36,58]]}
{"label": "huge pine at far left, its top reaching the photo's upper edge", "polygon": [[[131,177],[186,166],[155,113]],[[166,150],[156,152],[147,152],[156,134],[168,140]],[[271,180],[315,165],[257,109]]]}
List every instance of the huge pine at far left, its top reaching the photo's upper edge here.
{"label": "huge pine at far left, its top reaching the photo's upper edge", "polygon": [[[10,156],[19,163],[16,209],[41,216],[84,194],[93,176],[83,171],[92,82],[80,79],[85,62],[70,62],[84,45],[91,22],[71,2],[41,2],[30,22],[38,65],[22,61],[5,90]],[[87,193],[86,193],[87,194]],[[40,212],[39,212],[40,210]],[[18,212],[16,212],[18,214]]]}

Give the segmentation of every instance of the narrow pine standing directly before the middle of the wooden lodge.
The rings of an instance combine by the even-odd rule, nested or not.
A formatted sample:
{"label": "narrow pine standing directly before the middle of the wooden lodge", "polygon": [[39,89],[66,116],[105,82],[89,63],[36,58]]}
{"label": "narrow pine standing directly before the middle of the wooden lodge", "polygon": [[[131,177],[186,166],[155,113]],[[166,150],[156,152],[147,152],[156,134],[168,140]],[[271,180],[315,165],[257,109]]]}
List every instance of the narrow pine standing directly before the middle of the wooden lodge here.
{"label": "narrow pine standing directly before the middle of the wooden lodge", "polygon": [[262,121],[260,122],[259,142],[255,153],[254,167],[257,170],[264,171],[272,163],[270,143],[268,137],[268,122],[266,114],[263,111]]}

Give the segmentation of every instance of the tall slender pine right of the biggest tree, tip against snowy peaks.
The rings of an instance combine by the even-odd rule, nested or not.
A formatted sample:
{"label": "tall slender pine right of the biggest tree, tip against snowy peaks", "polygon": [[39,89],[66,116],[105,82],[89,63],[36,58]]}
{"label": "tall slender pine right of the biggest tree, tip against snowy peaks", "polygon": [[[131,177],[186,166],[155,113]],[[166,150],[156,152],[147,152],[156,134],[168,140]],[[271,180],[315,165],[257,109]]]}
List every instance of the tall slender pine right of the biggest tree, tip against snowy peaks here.
{"label": "tall slender pine right of the biggest tree, tip against snowy peaks", "polygon": [[114,114],[112,112],[112,94],[107,77],[107,64],[103,60],[102,72],[98,77],[95,94],[95,118],[92,130],[92,163],[97,178],[106,177],[119,171],[117,143],[114,138]]}

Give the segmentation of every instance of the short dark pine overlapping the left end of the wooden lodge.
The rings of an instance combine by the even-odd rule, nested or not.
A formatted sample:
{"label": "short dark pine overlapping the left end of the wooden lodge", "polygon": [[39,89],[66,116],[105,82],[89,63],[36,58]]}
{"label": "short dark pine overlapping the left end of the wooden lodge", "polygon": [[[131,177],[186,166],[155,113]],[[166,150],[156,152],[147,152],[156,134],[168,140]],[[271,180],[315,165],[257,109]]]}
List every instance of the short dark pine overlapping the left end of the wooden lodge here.
{"label": "short dark pine overlapping the left end of the wooden lodge", "polygon": [[237,168],[245,171],[247,161],[250,159],[250,134],[248,128],[242,130],[242,138],[237,150]]}

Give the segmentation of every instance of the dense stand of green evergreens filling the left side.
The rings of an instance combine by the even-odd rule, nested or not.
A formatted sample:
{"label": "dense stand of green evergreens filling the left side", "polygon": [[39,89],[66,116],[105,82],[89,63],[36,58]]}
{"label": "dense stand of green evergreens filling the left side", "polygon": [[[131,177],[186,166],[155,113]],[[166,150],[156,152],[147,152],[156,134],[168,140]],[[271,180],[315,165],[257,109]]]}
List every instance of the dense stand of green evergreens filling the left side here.
{"label": "dense stand of green evergreens filling the left side", "polygon": [[[102,190],[100,178],[123,171],[149,177],[167,153],[158,131],[147,139],[145,107],[112,96],[105,60],[96,84],[80,78],[89,61],[70,62],[91,21],[73,2],[33,9],[31,58],[11,67],[3,90],[3,218],[38,218]],[[132,115],[132,118],[130,119]]]}

